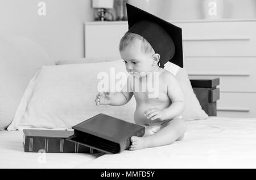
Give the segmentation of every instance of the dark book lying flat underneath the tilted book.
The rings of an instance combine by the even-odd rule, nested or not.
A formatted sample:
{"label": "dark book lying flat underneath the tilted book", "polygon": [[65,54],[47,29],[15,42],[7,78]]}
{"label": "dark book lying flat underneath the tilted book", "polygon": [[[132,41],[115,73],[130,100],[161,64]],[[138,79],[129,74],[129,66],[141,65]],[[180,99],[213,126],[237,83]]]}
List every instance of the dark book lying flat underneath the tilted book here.
{"label": "dark book lying flat underneath the tilted book", "polygon": [[24,152],[98,153],[96,149],[67,141],[73,131],[23,129]]}

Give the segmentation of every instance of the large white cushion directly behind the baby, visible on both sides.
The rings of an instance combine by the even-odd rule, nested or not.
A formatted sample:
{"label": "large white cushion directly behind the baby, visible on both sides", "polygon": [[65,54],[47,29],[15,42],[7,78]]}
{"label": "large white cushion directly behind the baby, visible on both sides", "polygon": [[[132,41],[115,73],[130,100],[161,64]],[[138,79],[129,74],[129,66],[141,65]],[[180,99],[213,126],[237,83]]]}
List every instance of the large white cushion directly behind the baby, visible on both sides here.
{"label": "large white cushion directly behind the baby, visible on both sides", "polygon": [[[187,100],[187,106],[181,114],[182,119],[207,118],[207,114],[201,109],[193,93],[185,69],[177,69],[172,65],[171,67],[170,70],[176,72],[176,77]],[[96,106],[94,102],[100,81],[97,79],[98,73],[105,72],[111,77],[110,68],[115,68],[115,73],[125,72],[127,74],[122,60],[43,66],[31,79],[8,130],[71,128],[99,113],[133,123],[136,106],[134,97],[123,106]],[[117,81],[118,79],[114,79],[115,83]]]}

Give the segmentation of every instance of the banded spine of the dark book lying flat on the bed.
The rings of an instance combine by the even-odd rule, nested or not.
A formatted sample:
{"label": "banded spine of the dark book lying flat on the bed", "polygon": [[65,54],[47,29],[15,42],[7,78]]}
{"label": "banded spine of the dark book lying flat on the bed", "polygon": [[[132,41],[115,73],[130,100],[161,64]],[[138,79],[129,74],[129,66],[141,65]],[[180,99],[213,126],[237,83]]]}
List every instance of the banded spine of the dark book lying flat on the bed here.
{"label": "banded spine of the dark book lying flat on the bed", "polygon": [[23,144],[24,152],[98,153],[96,149],[57,137],[26,136],[24,137]]}

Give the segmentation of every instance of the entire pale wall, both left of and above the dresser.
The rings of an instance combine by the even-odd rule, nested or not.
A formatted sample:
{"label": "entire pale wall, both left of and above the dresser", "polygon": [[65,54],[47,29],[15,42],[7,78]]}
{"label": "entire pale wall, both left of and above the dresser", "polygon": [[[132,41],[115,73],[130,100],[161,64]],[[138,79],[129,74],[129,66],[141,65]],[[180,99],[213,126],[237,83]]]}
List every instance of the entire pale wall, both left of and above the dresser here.
{"label": "entire pale wall, both left of and above the dresser", "polygon": [[[0,32],[28,36],[53,60],[84,56],[83,23],[93,20],[90,0],[42,0],[46,16],[38,15],[39,0],[0,0]],[[150,2],[147,10],[168,20],[201,19],[203,0],[135,0]],[[223,0],[224,18],[255,18],[255,0]]]}

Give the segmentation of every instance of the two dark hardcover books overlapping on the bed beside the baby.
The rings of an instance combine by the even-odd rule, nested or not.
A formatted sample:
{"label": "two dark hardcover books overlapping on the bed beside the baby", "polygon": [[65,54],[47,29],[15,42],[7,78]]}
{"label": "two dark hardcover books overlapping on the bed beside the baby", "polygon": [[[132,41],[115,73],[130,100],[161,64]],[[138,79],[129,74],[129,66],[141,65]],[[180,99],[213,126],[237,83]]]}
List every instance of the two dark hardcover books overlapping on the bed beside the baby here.
{"label": "two dark hardcover books overlapping on the bed beside the baby", "polygon": [[130,137],[142,137],[145,128],[105,114],[72,127],[74,131],[24,129],[24,151],[49,153],[120,153]]}

